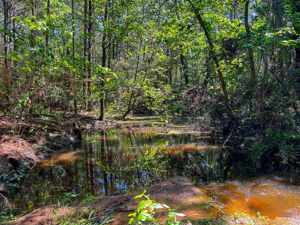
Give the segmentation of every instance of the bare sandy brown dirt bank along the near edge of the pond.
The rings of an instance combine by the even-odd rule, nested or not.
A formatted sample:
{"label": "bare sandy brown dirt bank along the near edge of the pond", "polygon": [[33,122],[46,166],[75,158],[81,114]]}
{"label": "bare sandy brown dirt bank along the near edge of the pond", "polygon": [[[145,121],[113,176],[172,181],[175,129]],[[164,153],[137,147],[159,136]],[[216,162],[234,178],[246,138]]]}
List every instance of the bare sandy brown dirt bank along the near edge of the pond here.
{"label": "bare sandy brown dirt bank along the near edge of the pond", "polygon": [[[210,212],[201,209],[199,206],[199,201],[207,198],[205,190],[196,187],[190,179],[184,176],[179,176],[175,178],[168,179],[166,181],[155,184],[151,187],[147,187],[147,193],[151,199],[159,203],[165,203],[171,208],[177,208],[177,211],[185,214],[183,221],[186,224],[198,224],[197,221],[209,217],[209,215],[214,215],[217,217],[217,210],[211,209]],[[76,214],[78,208],[85,209],[87,205],[91,205],[94,210],[99,211],[96,216],[99,217],[99,221],[103,220],[104,217],[111,212],[116,212],[114,215],[115,220],[113,225],[127,224],[129,217],[128,214],[135,211],[138,207],[139,202],[142,200],[140,198],[135,199],[135,196],[143,192],[139,190],[129,195],[121,196],[105,196],[102,198],[97,198],[89,200],[84,203],[76,203],[73,206],[61,207],[58,209],[57,205],[50,205],[33,211],[32,213],[20,218],[14,225],[46,225],[51,224],[55,220],[53,219],[52,213],[56,214],[56,219],[60,217],[66,217],[68,214]],[[119,207],[120,206],[120,207]],[[168,212],[166,210],[159,209],[157,214],[166,215]],[[220,217],[219,217],[220,218]],[[190,221],[190,223],[187,222]],[[221,223],[215,224],[265,224],[265,225],[284,225],[298,224],[297,222],[290,221],[285,218],[276,217],[273,220],[265,219],[263,217],[238,217],[234,218],[231,216],[222,216],[222,219],[218,219]],[[223,221],[223,222],[222,222]],[[202,224],[202,223],[201,223]],[[204,223],[209,224],[209,223]]]}

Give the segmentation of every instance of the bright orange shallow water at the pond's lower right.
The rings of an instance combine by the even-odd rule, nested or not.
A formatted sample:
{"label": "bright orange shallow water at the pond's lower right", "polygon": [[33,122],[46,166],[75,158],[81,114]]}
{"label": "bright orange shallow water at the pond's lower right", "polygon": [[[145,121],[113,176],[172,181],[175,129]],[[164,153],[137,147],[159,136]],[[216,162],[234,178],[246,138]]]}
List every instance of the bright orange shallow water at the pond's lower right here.
{"label": "bright orange shallow water at the pond's lower right", "polygon": [[278,185],[271,179],[256,182],[235,182],[235,185],[215,185],[207,191],[215,195],[226,214],[243,212],[255,216],[260,212],[270,219],[300,215],[300,190],[288,184]]}

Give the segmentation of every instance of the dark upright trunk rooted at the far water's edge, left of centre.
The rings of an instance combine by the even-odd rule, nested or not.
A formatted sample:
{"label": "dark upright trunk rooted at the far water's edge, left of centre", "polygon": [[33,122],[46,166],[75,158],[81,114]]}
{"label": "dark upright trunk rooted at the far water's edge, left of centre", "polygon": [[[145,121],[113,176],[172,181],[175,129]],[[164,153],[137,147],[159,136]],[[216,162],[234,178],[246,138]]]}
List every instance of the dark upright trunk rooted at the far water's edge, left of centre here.
{"label": "dark upright trunk rooted at the far water's edge, left of centre", "polygon": [[[106,66],[106,32],[107,32],[107,20],[108,20],[108,3],[105,3],[105,10],[104,10],[104,25],[103,25],[103,37],[102,37],[102,67]],[[104,75],[104,74],[103,74]],[[101,81],[101,87],[104,86],[104,82]],[[102,95],[100,98],[100,117],[99,120],[104,120],[105,114],[105,95]]]}

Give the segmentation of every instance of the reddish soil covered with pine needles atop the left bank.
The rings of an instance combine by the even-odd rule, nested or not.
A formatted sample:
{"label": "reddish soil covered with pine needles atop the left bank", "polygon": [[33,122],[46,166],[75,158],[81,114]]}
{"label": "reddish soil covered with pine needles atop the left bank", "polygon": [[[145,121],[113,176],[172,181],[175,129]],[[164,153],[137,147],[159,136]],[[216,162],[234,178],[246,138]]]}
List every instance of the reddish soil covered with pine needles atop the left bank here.
{"label": "reddish soil covered with pine needles atop the left bank", "polygon": [[[52,118],[55,116],[51,116]],[[20,129],[20,137],[12,137],[12,127],[18,122],[7,116],[0,117],[0,168],[11,167],[9,158],[14,158],[19,162],[27,162],[33,166],[41,158],[44,158],[54,150],[61,149],[73,144],[78,139],[73,132],[72,118],[67,117],[65,121],[42,121],[37,126],[32,121],[23,123]],[[96,120],[93,116],[79,115],[80,126],[85,130],[99,130],[107,126],[116,126],[115,122],[103,122]],[[47,132],[41,134],[42,127],[47,125]],[[31,135],[29,128],[34,127],[40,130],[40,135]],[[55,132],[58,132],[55,133]],[[51,137],[49,134],[52,133]],[[42,149],[46,151],[42,151]],[[45,153],[46,152],[46,153]]]}

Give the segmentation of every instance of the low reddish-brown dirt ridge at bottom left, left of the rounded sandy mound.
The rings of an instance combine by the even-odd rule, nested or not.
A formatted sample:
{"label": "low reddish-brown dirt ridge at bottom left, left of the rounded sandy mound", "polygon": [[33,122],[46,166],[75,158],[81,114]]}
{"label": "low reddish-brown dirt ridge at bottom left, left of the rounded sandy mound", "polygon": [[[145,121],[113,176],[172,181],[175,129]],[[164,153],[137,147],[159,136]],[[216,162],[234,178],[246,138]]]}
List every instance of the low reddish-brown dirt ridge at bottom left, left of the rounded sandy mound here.
{"label": "low reddish-brown dirt ridge at bottom left, left of the rounded sandy mound", "polygon": [[[50,205],[43,208],[39,208],[32,213],[29,213],[23,217],[21,217],[17,222],[12,223],[13,225],[48,225],[54,223],[54,218],[51,212],[56,214],[57,220],[60,217],[66,217],[68,214],[76,214],[77,210],[84,210],[90,206],[93,210],[99,211],[94,216],[97,216],[99,220],[103,220],[104,217],[112,212],[114,208],[118,207],[122,203],[128,201],[131,198],[129,195],[120,195],[120,196],[105,196],[102,198],[97,198],[93,200],[88,200],[87,202],[83,202],[81,204],[77,203],[75,205],[61,207],[57,209],[57,205]],[[57,221],[56,220],[56,221]]]}

